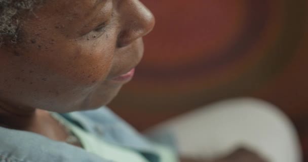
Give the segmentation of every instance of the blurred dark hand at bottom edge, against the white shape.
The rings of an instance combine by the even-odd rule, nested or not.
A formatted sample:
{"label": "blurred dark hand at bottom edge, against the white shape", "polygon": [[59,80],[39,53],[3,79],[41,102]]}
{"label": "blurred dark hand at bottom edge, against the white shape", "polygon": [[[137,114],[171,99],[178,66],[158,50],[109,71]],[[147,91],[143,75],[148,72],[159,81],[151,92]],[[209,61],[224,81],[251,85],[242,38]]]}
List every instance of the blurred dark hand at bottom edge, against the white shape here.
{"label": "blurred dark hand at bottom edge, against the white shape", "polygon": [[181,162],[270,162],[264,160],[256,153],[249,151],[245,148],[240,148],[233,153],[216,159],[216,160],[207,160],[207,159],[187,159],[183,158]]}

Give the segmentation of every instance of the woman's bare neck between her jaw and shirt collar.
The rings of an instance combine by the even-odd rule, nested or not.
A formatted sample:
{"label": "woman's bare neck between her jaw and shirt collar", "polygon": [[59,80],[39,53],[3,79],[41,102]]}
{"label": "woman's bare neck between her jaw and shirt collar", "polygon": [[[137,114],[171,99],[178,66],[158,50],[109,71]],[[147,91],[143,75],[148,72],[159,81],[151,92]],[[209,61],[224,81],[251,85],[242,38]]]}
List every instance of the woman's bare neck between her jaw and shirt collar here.
{"label": "woman's bare neck between her jaw and shirt collar", "polygon": [[65,141],[67,133],[48,111],[13,106],[0,101],[0,127],[41,134],[57,141]]}

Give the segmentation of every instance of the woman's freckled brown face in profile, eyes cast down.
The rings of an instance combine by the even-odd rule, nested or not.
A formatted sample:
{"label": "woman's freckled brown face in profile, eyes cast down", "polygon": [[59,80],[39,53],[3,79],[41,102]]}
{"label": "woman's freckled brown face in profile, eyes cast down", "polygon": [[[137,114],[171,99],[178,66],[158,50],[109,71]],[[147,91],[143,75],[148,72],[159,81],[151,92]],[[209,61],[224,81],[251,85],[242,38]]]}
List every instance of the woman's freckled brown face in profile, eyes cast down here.
{"label": "woman's freckled brown face in profile, eyes cast down", "polygon": [[68,112],[107,104],[133,76],[155,20],[138,0],[55,0],[0,49],[0,100]]}

